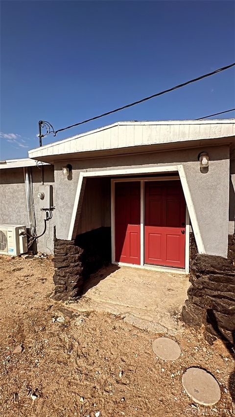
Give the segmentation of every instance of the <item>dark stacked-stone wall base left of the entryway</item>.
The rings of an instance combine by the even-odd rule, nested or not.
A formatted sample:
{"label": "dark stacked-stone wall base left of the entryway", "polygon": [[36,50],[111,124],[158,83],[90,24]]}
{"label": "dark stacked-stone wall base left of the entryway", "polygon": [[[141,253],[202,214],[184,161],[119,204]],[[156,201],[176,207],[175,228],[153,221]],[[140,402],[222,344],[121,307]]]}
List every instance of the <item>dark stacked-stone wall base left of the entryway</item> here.
{"label": "dark stacked-stone wall base left of the entryway", "polygon": [[84,280],[104,263],[111,262],[111,229],[100,227],[78,235],[72,241],[54,235],[56,300],[76,300],[83,291]]}

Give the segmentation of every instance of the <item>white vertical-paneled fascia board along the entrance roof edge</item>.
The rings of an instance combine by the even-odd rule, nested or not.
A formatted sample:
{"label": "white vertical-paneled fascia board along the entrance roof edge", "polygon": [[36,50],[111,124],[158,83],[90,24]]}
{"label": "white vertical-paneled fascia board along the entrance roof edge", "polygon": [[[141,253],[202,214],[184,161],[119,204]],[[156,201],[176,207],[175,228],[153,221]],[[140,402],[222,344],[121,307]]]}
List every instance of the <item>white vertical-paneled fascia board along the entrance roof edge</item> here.
{"label": "white vertical-paneled fascia board along the entrance roof edge", "polygon": [[[118,135],[115,140],[100,140],[100,132],[107,131],[116,127],[146,127],[146,138],[135,141],[135,138],[128,136],[127,140],[123,142]],[[154,137],[149,136],[151,127],[155,127]],[[114,130],[114,129],[113,129]],[[118,129],[119,130],[119,129]],[[148,131],[148,132],[147,132]],[[145,133],[145,132],[143,132]],[[157,133],[157,134],[156,134]],[[82,141],[83,137],[90,136],[86,139],[86,144]],[[106,134],[108,136],[109,133]],[[110,133],[110,136],[112,133]],[[75,136],[71,136],[67,139],[63,139],[57,142],[44,145],[40,148],[29,151],[29,157],[38,158],[40,156],[58,155],[58,154],[70,154],[79,152],[89,152],[98,150],[108,150],[117,148],[127,148],[140,145],[152,145],[152,144],[164,144],[164,143],[177,143],[187,142],[189,140],[200,139],[215,139],[219,137],[228,137],[235,135],[235,119],[222,119],[222,120],[168,120],[168,121],[146,121],[146,122],[118,122],[112,125],[104,126],[102,128],[80,133]],[[94,137],[92,137],[94,136]],[[99,136],[99,138],[97,137]],[[105,136],[105,133],[104,133]],[[148,137],[147,137],[148,136]],[[97,140],[96,140],[97,137]],[[77,139],[80,139],[77,141]],[[121,138],[122,139],[122,138]],[[77,142],[76,142],[77,141]],[[108,146],[108,142],[110,142]],[[113,143],[112,143],[113,142]],[[76,143],[76,144],[75,144]],[[84,146],[85,145],[85,146]]]}

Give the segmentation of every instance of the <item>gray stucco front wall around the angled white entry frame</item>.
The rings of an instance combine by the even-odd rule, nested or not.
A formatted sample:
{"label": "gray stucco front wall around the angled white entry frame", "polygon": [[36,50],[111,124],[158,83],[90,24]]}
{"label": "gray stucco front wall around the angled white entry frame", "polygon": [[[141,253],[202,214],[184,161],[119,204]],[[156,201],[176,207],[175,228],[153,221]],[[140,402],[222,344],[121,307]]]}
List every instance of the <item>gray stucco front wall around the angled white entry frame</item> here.
{"label": "gray stucco front wall around the angled white entry frame", "polygon": [[[207,174],[199,170],[198,154],[208,152]],[[62,166],[72,165],[72,179],[62,175]],[[159,153],[119,155],[55,162],[55,218],[57,237],[68,239],[73,202],[81,171],[183,164],[207,254],[227,256],[229,224],[229,146],[197,147]],[[94,201],[95,204],[95,201]],[[84,221],[83,221],[84,223]],[[82,228],[83,231],[84,227]]]}

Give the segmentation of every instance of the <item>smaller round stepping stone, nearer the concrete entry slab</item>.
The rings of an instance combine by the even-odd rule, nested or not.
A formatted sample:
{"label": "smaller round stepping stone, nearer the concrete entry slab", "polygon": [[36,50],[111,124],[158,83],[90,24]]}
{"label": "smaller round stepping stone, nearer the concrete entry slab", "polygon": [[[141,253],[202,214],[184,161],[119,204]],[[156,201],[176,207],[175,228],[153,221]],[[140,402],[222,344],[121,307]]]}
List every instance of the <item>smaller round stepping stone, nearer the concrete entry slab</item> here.
{"label": "smaller round stepping stone, nearer the concrete entry slab", "polygon": [[154,353],[161,359],[175,360],[181,354],[178,343],[168,337],[159,337],[152,342]]}

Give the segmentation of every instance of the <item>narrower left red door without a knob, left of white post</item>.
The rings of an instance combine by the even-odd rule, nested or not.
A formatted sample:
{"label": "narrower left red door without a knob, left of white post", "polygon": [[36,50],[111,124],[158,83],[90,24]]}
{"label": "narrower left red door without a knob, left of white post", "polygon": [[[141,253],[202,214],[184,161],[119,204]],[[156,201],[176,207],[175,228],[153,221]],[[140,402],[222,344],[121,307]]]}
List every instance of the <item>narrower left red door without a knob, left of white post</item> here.
{"label": "narrower left red door without a knob, left of white post", "polygon": [[117,262],[141,263],[141,184],[115,186],[115,256]]}

